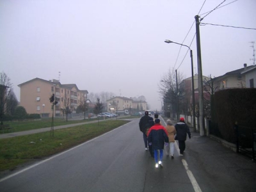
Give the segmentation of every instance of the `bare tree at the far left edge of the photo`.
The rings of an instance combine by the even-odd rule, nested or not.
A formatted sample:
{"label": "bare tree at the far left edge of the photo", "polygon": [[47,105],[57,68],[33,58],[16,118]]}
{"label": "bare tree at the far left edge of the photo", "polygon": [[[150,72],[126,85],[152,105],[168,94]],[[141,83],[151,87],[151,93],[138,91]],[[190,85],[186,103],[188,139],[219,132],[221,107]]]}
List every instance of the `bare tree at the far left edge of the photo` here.
{"label": "bare tree at the far left edge of the photo", "polygon": [[0,121],[3,125],[4,114],[7,111],[7,101],[10,98],[12,83],[10,78],[4,73],[0,74]]}

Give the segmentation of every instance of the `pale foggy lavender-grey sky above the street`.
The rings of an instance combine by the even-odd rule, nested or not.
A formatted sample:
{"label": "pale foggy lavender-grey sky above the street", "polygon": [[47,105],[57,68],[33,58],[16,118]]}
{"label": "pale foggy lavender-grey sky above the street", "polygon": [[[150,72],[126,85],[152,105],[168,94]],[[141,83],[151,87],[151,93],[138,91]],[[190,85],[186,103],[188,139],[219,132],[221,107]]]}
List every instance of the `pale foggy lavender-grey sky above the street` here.
{"label": "pale foggy lavender-grey sky above the street", "polygon": [[[164,40],[191,44],[196,74],[195,15],[208,24],[256,28],[256,1],[233,1],[214,10],[223,0],[1,0],[0,72],[18,100],[18,84],[60,78],[89,93],[144,95],[160,110],[158,85],[168,70],[191,77],[188,48]],[[202,25],[200,40],[204,76],[253,64],[256,30]]]}

